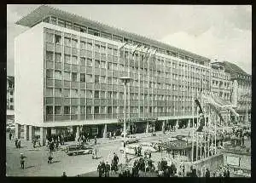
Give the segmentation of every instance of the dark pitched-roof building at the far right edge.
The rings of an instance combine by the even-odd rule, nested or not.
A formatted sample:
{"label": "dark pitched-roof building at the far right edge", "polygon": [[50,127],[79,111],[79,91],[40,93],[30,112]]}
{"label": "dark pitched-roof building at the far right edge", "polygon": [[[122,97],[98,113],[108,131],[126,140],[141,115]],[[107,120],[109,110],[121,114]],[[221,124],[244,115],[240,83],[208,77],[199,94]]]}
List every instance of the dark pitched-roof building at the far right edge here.
{"label": "dark pitched-roof building at the far right edge", "polygon": [[[232,82],[231,100],[236,105],[236,112],[239,113],[239,122],[251,120],[252,105],[252,76],[243,71],[239,66],[224,61],[225,71],[230,73]],[[234,118],[234,117],[233,117]]]}

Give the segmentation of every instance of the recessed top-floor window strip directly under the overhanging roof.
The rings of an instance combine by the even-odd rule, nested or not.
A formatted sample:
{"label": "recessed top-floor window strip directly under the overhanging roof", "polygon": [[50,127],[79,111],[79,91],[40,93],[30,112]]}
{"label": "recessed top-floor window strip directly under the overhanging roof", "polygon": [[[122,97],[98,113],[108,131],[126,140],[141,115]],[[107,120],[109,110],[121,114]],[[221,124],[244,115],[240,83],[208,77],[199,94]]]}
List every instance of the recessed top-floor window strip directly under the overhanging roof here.
{"label": "recessed top-floor window strip directly under the overhanging roof", "polygon": [[[116,41],[116,42],[121,42],[121,43],[122,42],[128,42],[128,43],[144,44],[144,43],[137,42],[135,40],[131,40],[128,37],[122,37],[122,36],[119,36],[119,35],[114,35],[111,32],[96,30],[96,29],[88,27],[88,26],[81,26],[77,23],[70,22],[68,20],[62,20],[61,18],[56,18],[54,16],[47,17],[43,21],[47,22],[47,23],[50,23],[50,24],[54,24],[56,26],[66,27],[68,29],[73,29],[75,31],[81,31],[81,32],[84,32],[84,33],[88,33],[88,34],[96,36],[96,37],[104,37],[104,38],[107,38],[109,40],[113,40],[113,41]],[[160,54],[171,55],[173,57],[177,57],[177,58],[182,59],[182,60],[187,60],[187,61],[190,61],[190,62],[193,62],[193,63],[196,63],[196,64],[209,66],[209,63],[207,63],[206,61],[203,61],[203,60],[198,60],[198,59],[194,58],[194,56],[184,55],[184,54],[172,51],[172,50],[166,50],[166,49],[160,49],[160,48],[155,48],[155,49],[157,49],[157,52],[160,53]]]}

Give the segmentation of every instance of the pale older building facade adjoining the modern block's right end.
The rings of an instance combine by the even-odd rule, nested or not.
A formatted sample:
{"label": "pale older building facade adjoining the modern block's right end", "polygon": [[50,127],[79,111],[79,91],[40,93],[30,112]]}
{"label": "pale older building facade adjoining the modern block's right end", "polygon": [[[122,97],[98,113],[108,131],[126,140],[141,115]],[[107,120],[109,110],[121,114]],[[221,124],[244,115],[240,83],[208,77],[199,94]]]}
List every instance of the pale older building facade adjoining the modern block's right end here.
{"label": "pale older building facade adjoining the modern block's right end", "polygon": [[[212,86],[211,92],[216,97],[219,97],[219,100],[224,102],[229,102],[231,99],[231,87],[232,83],[230,81],[230,73],[225,71],[224,65],[222,62],[212,62]],[[223,103],[224,103],[223,102]],[[221,110],[221,116],[224,118],[224,122],[230,121],[230,110]]]}

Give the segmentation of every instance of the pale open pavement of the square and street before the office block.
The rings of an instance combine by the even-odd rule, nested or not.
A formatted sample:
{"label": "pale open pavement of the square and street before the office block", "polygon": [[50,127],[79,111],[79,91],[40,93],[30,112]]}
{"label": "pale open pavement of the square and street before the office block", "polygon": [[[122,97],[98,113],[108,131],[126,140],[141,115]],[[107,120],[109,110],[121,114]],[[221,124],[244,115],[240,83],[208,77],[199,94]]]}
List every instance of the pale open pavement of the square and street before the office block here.
{"label": "pale open pavement of the square and street before the office block", "polygon": [[[141,141],[150,141],[158,139],[166,139],[167,136],[176,136],[177,134],[189,134],[189,129],[177,129],[176,132],[167,132],[162,134],[158,132],[157,136],[151,136],[151,134],[137,134],[142,138]],[[120,137],[119,137],[120,138]],[[98,163],[102,160],[111,163],[113,152],[117,152],[119,159],[122,158],[119,153],[119,147],[121,146],[120,139],[117,140],[98,140],[99,146],[99,159],[92,159],[91,155],[79,155],[79,156],[67,156],[65,152],[54,152],[53,163],[47,163],[48,160],[48,148],[38,147],[32,148],[30,141],[25,142],[21,140],[20,149],[15,148],[14,140],[10,141],[7,136],[6,143],[6,172],[7,176],[58,176],[65,171],[67,176],[76,176],[77,174],[84,174],[93,172],[96,170]],[[20,153],[26,156],[25,169],[20,169]],[[109,160],[108,160],[109,155]],[[154,155],[153,155],[154,157]]]}

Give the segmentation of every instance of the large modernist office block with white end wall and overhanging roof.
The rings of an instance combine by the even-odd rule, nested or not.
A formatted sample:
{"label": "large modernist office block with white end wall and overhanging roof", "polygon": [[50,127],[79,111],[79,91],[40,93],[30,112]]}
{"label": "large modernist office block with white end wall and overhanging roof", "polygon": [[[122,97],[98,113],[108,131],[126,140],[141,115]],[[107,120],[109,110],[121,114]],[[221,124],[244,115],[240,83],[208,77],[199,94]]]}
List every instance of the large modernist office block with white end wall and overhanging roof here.
{"label": "large modernist office block with white end wall and overhanging roof", "polygon": [[[188,122],[193,100],[210,89],[210,60],[183,49],[45,5],[17,24],[30,27],[15,38],[15,123],[26,139],[35,127],[43,138],[67,128],[99,137],[122,129],[120,77],[131,77],[126,117],[137,133]],[[131,45],[157,52],[132,55]]]}

